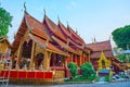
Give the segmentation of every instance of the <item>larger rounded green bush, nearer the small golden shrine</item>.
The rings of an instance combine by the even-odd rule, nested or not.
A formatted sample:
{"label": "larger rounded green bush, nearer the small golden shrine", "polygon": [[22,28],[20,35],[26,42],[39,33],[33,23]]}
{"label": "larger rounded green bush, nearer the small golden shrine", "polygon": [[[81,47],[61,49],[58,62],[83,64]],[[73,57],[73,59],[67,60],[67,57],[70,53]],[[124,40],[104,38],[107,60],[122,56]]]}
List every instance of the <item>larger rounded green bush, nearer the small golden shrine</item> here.
{"label": "larger rounded green bush, nearer the small golden shrine", "polygon": [[91,63],[83,63],[80,66],[80,69],[81,69],[82,76],[84,76],[87,78],[89,78],[89,77],[95,77],[95,75],[96,75],[95,71],[94,71],[94,69],[93,69],[93,66],[92,66]]}

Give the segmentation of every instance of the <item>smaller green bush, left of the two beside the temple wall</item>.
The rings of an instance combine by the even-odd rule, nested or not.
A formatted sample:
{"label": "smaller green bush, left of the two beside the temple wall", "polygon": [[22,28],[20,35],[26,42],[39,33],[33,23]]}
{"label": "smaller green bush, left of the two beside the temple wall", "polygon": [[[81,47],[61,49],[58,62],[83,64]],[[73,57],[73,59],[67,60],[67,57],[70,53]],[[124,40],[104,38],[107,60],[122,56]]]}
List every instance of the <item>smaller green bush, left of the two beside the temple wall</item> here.
{"label": "smaller green bush, left of the two beside the temple wall", "polygon": [[78,74],[78,66],[73,62],[68,63],[67,66],[69,69],[70,75],[75,77]]}

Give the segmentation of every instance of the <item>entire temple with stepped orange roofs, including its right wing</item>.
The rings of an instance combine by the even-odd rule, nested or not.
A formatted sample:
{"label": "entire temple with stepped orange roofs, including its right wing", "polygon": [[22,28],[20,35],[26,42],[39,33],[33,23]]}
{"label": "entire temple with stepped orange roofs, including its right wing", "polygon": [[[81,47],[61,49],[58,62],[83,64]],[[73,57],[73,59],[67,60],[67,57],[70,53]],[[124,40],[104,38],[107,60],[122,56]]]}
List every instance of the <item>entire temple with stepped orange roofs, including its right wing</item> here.
{"label": "entire temple with stepped orange roofs, including its right wing", "polygon": [[[104,61],[100,62],[101,54]],[[92,62],[95,70],[112,66],[114,54],[109,40],[86,44],[69,25],[65,27],[58,20],[55,24],[44,13],[39,22],[25,11],[24,17],[12,44],[12,58],[17,58],[20,69],[55,71],[54,78],[69,77],[67,63],[78,66]],[[108,65],[105,65],[108,63]]]}

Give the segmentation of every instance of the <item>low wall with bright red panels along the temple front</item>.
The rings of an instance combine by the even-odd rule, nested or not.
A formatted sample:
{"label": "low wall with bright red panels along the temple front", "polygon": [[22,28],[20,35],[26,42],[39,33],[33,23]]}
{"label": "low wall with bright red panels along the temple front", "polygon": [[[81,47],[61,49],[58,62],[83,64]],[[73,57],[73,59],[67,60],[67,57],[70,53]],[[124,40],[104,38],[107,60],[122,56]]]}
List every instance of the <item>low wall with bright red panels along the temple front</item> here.
{"label": "low wall with bright red panels along the temple front", "polygon": [[9,71],[3,70],[0,76],[10,79],[10,83],[15,84],[42,84],[42,83],[53,83],[53,72],[52,71],[16,71],[11,70],[10,76]]}

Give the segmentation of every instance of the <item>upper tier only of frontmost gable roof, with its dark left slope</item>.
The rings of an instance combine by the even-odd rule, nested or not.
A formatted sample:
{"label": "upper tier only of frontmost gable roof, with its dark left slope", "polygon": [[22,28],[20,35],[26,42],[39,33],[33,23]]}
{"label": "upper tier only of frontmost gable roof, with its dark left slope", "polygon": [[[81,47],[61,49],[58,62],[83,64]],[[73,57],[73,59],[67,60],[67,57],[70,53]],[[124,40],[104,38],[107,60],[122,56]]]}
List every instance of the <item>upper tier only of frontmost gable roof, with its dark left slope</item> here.
{"label": "upper tier only of frontmost gable roof, with its dark left slope", "polygon": [[46,34],[42,24],[32,16],[30,16],[27,12],[25,12],[22,24],[12,44],[12,52],[14,52],[18,48],[21,39],[23,38],[27,29],[38,36],[41,36],[44,39],[48,38],[48,35]]}

